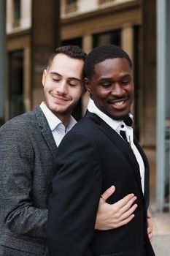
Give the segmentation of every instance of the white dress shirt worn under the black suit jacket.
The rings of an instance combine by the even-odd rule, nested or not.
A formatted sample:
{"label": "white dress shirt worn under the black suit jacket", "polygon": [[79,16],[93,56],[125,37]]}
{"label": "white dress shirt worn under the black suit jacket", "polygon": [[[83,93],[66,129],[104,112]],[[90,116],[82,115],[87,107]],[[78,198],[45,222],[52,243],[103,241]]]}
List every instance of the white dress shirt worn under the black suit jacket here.
{"label": "white dress shirt worn under the black suit jacket", "polygon": [[[126,126],[125,123],[121,120],[114,120],[114,119],[110,118],[109,116],[107,116],[105,113],[103,113],[101,110],[99,110],[96,107],[95,103],[93,102],[93,99],[89,99],[88,111],[90,113],[95,113],[97,116],[99,116],[102,120],[104,120],[109,125],[109,127],[112,127],[112,129],[115,129],[115,132],[117,132],[118,135],[120,135],[120,129],[125,131],[128,143],[130,143],[131,148],[134,151],[134,155],[136,157],[136,160],[139,164],[142,191],[144,193],[144,161],[142,159],[141,154],[139,153],[139,150],[134,145],[134,131],[133,131],[133,128]],[[129,114],[129,116],[131,118],[133,118],[133,116],[131,114]]]}

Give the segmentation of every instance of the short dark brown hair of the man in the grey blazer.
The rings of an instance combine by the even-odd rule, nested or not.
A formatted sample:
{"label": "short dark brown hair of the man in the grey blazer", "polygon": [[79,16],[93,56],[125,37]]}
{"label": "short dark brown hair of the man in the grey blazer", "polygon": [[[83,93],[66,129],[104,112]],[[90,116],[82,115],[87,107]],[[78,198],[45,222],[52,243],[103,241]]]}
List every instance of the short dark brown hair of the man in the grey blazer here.
{"label": "short dark brown hair of the man in the grey blazer", "polygon": [[84,50],[82,50],[77,45],[66,45],[55,49],[55,51],[50,55],[48,59],[47,67],[50,67],[50,64],[52,63],[54,57],[59,53],[63,53],[72,59],[82,59],[82,61],[85,61],[86,53],[84,52]]}

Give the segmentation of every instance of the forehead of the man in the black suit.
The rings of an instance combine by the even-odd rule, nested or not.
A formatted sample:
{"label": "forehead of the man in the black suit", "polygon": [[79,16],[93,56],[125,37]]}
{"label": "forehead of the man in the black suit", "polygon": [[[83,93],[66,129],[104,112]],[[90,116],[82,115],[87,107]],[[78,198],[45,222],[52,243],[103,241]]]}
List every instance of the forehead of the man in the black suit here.
{"label": "forehead of the man in the black suit", "polygon": [[125,58],[106,59],[94,66],[95,75],[125,75],[132,73],[132,69]]}

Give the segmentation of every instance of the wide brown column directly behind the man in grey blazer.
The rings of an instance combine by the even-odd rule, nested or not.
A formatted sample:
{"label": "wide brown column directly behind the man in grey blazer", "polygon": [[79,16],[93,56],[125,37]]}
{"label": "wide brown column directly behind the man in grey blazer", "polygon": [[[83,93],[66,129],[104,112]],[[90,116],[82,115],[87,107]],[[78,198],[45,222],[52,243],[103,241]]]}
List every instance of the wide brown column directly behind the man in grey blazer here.
{"label": "wide brown column directly behind the man in grey blazer", "polygon": [[42,72],[50,53],[60,45],[60,1],[32,1],[32,108],[43,99]]}

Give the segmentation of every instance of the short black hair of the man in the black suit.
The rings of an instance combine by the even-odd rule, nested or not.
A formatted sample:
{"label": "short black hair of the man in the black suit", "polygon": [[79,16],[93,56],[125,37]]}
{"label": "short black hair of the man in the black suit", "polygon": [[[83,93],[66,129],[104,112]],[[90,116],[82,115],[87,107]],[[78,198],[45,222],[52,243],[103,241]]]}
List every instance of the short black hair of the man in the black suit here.
{"label": "short black hair of the man in the black suit", "polygon": [[84,72],[86,78],[91,78],[94,75],[94,66],[106,59],[125,58],[132,68],[132,62],[128,53],[117,45],[101,45],[93,50],[85,58]]}

